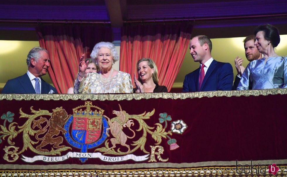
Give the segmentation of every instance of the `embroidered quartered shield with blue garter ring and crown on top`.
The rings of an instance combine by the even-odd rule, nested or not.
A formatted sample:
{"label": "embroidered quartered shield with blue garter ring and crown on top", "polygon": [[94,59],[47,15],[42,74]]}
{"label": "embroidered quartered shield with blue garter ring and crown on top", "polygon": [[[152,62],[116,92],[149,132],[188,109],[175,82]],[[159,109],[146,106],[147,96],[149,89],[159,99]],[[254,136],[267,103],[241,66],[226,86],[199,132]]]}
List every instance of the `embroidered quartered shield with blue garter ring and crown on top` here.
{"label": "embroidered quartered shield with blue garter ring and crown on top", "polygon": [[[88,149],[102,144],[107,138],[106,129],[108,128],[103,113],[103,109],[93,106],[90,101],[74,108],[73,115],[64,126],[67,131],[65,138],[69,144],[81,149],[81,152],[88,152]],[[80,160],[84,162],[87,158],[80,158]]]}

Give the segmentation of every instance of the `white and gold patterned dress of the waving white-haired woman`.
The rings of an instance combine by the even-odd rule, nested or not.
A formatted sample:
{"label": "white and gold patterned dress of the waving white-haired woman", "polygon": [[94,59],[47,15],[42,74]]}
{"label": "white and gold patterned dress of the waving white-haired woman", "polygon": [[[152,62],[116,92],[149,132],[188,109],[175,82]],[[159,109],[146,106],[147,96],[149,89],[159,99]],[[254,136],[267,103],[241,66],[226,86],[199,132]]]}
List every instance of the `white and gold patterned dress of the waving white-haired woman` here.
{"label": "white and gold patterned dress of the waving white-haired woman", "polygon": [[108,82],[100,80],[100,74],[88,73],[81,81],[77,78],[74,93],[132,93],[131,76],[119,71]]}

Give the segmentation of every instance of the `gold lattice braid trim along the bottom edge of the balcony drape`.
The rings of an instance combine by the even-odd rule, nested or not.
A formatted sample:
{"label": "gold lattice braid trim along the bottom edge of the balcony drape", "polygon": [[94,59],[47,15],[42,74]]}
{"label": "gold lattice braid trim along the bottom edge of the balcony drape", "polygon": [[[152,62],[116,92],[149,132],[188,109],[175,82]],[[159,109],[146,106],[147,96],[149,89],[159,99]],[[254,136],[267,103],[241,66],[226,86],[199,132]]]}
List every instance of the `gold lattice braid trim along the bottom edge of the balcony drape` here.
{"label": "gold lattice braid trim along the bottom edge of the balcony drape", "polygon": [[[276,176],[286,176],[287,166],[277,166]],[[240,171],[241,172],[241,171]],[[252,174],[251,174],[252,173]],[[268,173],[266,168],[265,174],[255,174],[255,171],[250,174],[238,174],[236,167],[200,167],[200,168],[150,168],[136,170],[0,170],[0,176],[274,176]]]}

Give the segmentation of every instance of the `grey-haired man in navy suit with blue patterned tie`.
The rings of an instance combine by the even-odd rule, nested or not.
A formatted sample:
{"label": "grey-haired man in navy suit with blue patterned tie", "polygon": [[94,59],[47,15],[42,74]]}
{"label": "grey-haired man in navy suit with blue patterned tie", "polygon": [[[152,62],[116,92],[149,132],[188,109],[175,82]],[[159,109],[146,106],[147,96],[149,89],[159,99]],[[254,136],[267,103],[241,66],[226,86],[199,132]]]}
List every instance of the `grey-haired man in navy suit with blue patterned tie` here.
{"label": "grey-haired man in navy suit with blue patterned tie", "polygon": [[28,65],[27,73],[23,76],[8,80],[1,93],[57,93],[57,90],[52,85],[41,78],[41,76],[47,73],[50,67],[48,51],[42,47],[35,47],[28,53],[26,62]]}

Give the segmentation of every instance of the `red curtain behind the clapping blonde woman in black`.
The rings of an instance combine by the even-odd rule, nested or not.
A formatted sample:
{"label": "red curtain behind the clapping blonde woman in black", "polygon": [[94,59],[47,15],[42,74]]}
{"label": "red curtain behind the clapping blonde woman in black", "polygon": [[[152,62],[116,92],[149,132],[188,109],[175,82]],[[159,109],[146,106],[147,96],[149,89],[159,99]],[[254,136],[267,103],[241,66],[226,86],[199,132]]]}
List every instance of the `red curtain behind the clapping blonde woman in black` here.
{"label": "red curtain behind the clapping blonde woman in black", "polygon": [[191,23],[124,25],[120,70],[130,73],[133,80],[137,61],[151,58],[158,68],[159,85],[165,85],[170,91],[189,46],[191,32]]}

